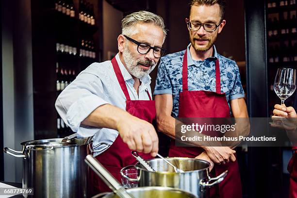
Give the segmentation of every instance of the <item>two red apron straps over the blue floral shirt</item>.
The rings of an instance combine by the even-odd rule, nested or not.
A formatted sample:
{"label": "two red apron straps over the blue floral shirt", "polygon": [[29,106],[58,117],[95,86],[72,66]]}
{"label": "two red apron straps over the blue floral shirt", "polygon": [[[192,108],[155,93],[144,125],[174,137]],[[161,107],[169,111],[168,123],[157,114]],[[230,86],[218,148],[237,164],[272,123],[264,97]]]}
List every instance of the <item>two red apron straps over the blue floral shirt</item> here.
{"label": "two red apron straps over the blue floral shirt", "polygon": [[[183,55],[182,60],[182,91],[188,91],[188,60],[187,60],[187,49]],[[221,93],[221,76],[220,76],[220,65],[219,60],[215,61],[215,92]]]}

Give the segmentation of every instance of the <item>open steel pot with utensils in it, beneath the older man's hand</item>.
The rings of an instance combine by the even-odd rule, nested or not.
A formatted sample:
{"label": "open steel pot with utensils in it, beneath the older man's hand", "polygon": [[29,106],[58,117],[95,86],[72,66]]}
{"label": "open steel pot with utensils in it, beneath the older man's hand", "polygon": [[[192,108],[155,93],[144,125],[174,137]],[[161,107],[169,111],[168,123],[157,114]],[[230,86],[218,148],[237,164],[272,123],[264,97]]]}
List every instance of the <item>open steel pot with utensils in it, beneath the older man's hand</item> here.
{"label": "open steel pot with utensils in it, beneath the older man's hand", "polygon": [[225,171],[221,175],[211,178],[209,175],[211,165],[207,161],[183,157],[166,159],[186,172],[176,173],[164,160],[155,158],[146,160],[155,172],[148,171],[140,163],[137,163],[136,165],[125,167],[136,168],[138,170],[137,179],[131,179],[126,176],[122,172],[125,168],[121,170],[121,175],[130,181],[137,181],[138,186],[173,187],[190,192],[198,198],[208,198],[209,188],[223,181],[228,173],[228,171]]}

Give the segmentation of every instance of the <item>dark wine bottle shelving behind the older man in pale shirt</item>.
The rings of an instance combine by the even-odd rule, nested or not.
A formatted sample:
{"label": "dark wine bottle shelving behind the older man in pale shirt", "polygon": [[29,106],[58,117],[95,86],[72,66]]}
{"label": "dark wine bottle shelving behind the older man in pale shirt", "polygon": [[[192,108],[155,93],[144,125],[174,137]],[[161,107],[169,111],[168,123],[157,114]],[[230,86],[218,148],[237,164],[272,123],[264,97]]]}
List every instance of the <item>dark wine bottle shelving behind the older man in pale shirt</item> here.
{"label": "dark wine bottle shelving behind the older man in pale shirt", "polygon": [[[102,0],[32,0],[31,11],[34,139],[63,137],[72,131],[55,100],[83,69],[102,61]],[[80,19],[81,11],[87,20]]]}

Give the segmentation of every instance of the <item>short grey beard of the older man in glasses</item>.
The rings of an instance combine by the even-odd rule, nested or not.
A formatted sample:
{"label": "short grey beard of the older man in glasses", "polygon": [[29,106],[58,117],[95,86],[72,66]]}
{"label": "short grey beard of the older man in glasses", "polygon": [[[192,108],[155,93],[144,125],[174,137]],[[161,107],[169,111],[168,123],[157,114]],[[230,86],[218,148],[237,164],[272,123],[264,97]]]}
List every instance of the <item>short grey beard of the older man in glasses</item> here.
{"label": "short grey beard of the older man in glasses", "polygon": [[[155,63],[154,61],[144,61],[141,59],[136,59],[127,47],[124,48],[123,59],[128,68],[129,73],[138,79],[147,76],[157,65],[157,63]],[[150,68],[148,70],[142,69],[138,66],[139,63],[144,62],[150,65]]]}

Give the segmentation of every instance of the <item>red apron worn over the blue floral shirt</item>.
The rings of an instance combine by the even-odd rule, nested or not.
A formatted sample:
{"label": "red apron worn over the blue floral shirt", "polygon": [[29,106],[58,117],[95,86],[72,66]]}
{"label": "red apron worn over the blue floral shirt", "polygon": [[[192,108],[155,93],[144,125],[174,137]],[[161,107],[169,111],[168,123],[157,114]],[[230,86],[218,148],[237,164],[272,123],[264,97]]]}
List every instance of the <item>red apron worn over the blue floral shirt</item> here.
{"label": "red apron worn over the blue floral shirt", "polygon": [[[187,50],[182,63],[182,92],[179,99],[179,117],[230,117],[230,108],[225,93],[221,93],[221,78],[219,60],[215,62],[215,85],[216,92],[189,91],[188,90],[188,67]],[[176,147],[175,141],[171,141],[169,157],[195,158],[204,149],[199,147]],[[241,198],[242,189],[237,161],[226,165],[214,165],[211,171],[212,177],[218,176],[225,170],[228,175],[219,185],[210,189],[210,197]]]}

